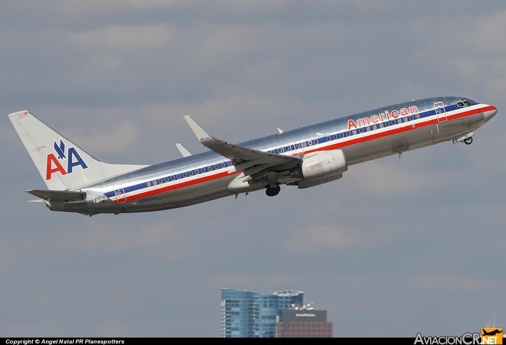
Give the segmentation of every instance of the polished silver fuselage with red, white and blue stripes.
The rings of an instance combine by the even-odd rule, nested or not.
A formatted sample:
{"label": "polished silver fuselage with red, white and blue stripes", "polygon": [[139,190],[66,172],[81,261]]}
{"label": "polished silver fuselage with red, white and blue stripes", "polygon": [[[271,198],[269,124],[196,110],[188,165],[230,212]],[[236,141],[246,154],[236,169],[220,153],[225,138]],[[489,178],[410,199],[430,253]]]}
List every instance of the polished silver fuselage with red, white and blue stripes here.
{"label": "polished silver fuselage with red, white and blue stripes", "polygon": [[[487,112],[495,109],[480,103],[457,106],[462,100],[465,99],[443,97],[393,105],[238,145],[302,157],[315,151],[341,149],[348,165],[357,164],[435,145],[475,131],[486,122]],[[435,110],[435,104],[440,102],[443,102],[443,110]],[[399,116],[400,109],[416,109],[416,112],[413,110],[408,115]],[[371,119],[376,119],[379,114],[383,115],[383,121],[373,123]],[[384,114],[396,114],[397,117]],[[359,120],[362,120],[361,125]],[[379,127],[380,123],[382,127]],[[96,214],[145,212],[193,205],[236,194],[228,189],[240,172],[229,172],[232,164],[230,159],[209,151],[80,188],[94,197],[49,206],[53,210]],[[277,173],[279,184],[297,181],[282,171]]]}

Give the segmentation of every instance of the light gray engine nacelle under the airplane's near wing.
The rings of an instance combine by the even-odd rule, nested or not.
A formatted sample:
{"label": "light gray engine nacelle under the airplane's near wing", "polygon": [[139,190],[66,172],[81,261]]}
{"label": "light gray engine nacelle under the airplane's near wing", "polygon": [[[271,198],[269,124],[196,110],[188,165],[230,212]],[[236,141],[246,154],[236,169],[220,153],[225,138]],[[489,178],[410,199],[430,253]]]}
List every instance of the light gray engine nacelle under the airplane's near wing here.
{"label": "light gray engine nacelle under the airplane's near wing", "polygon": [[315,181],[343,174],[348,163],[342,150],[318,151],[304,156],[302,162],[290,169],[290,177]]}

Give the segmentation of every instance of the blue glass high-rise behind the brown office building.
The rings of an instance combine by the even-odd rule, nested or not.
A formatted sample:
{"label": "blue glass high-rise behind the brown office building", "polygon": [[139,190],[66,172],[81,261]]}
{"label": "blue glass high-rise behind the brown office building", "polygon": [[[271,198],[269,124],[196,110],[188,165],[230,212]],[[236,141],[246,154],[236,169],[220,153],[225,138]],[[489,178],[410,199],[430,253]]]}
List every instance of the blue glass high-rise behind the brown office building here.
{"label": "blue glass high-rise behind the brown office building", "polygon": [[275,337],[280,311],[302,306],[303,297],[295,290],[268,294],[222,288],[222,336]]}

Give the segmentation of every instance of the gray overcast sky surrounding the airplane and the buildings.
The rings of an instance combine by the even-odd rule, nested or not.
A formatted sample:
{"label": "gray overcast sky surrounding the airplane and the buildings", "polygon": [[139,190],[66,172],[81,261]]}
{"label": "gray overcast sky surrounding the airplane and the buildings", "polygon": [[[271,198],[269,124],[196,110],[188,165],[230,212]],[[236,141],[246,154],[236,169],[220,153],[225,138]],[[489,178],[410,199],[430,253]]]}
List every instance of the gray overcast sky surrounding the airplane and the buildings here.
{"label": "gray overcast sky surrounding the airplane and the buildings", "polygon": [[[305,291],[334,336],[506,327],[504,1],[0,5],[0,336],[220,336],[220,287]],[[98,159],[203,152],[436,96],[497,107],[472,145],[343,179],[146,214],[51,212],[7,114]]]}

